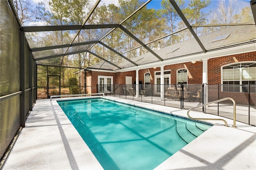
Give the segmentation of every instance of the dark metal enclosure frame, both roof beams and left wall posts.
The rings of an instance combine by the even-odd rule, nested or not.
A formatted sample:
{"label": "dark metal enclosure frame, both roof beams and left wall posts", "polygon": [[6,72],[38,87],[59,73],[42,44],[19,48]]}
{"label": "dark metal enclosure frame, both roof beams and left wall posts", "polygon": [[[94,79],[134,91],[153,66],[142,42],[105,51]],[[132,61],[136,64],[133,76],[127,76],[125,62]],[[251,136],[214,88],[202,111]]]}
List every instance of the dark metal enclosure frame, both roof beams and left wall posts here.
{"label": "dark metal enclosure frame, both roof beams and left wall posts", "polygon": [[[19,19],[18,19],[18,14],[15,10],[14,4],[12,0],[7,0],[12,13],[14,14],[14,18],[16,19],[16,22],[18,24],[18,26],[20,27],[20,91],[9,94],[9,95],[5,95],[0,97],[1,100],[5,100],[8,99],[10,97],[14,97],[16,95],[20,95],[20,115],[21,115],[21,126],[24,126],[25,123],[25,92],[30,90],[30,98],[29,99],[29,109],[32,110],[32,105],[35,102],[35,100],[37,99],[37,66],[38,65],[44,65],[44,64],[37,64],[36,61],[40,61],[40,60],[44,60],[44,59],[51,59],[54,57],[62,57],[61,63],[59,66],[54,66],[54,65],[44,65],[44,66],[54,66],[54,67],[65,67],[62,66],[62,61],[63,61],[63,57],[66,55],[72,55],[72,54],[76,54],[76,53],[90,53],[92,55],[94,55],[95,57],[98,57],[99,59],[102,59],[104,62],[107,62],[111,65],[113,65],[114,67],[116,67],[117,69],[122,69],[121,67],[119,67],[118,65],[112,63],[110,61],[110,59],[112,59],[113,57],[110,57],[108,59],[104,59],[103,57],[101,57],[100,55],[97,55],[95,53],[93,53],[92,51],[90,51],[90,49],[92,47],[94,47],[94,45],[96,44],[100,44],[103,45],[104,47],[108,48],[109,50],[113,51],[114,53],[116,53],[117,55],[115,55],[114,57],[120,56],[123,59],[129,61],[130,63],[132,63],[134,66],[138,66],[138,64],[130,59],[128,59],[127,57],[125,57],[123,54],[127,53],[129,51],[132,51],[134,49],[137,49],[139,47],[144,47],[146,48],[152,55],[154,55],[158,60],[163,61],[163,59],[157,55],[154,51],[152,51],[147,45],[149,43],[152,42],[156,42],[158,40],[161,40],[162,38],[166,38],[168,36],[171,36],[173,34],[176,34],[180,31],[186,30],[188,29],[190,31],[190,33],[192,34],[192,36],[196,39],[197,43],[200,45],[200,47],[202,48],[202,51],[204,53],[206,53],[208,50],[205,49],[204,45],[202,44],[202,42],[199,40],[198,36],[196,35],[196,33],[194,32],[193,28],[198,28],[198,27],[219,27],[219,26],[237,26],[237,25],[255,25],[255,23],[234,23],[234,24],[208,24],[208,25],[190,25],[188,20],[185,18],[184,14],[182,13],[182,11],[180,10],[180,8],[178,7],[178,5],[176,4],[176,2],[174,0],[169,0],[170,4],[175,8],[175,10],[178,12],[178,15],[180,16],[180,18],[183,20],[183,22],[186,24],[186,28],[178,30],[176,32],[173,32],[171,34],[168,34],[166,36],[163,36],[161,38],[158,38],[152,42],[148,42],[148,43],[143,43],[141,40],[139,40],[136,36],[134,36],[134,34],[132,34],[131,32],[129,32],[126,28],[124,28],[124,26],[122,26],[122,24],[124,24],[124,22],[126,22],[129,18],[131,18],[134,14],[136,14],[138,11],[140,11],[142,8],[144,8],[151,0],[148,0],[147,2],[145,2],[144,4],[142,4],[142,6],[140,6],[137,10],[135,10],[132,14],[130,14],[126,19],[124,19],[122,22],[120,22],[120,24],[102,24],[102,25],[86,25],[86,22],[88,21],[88,19],[90,18],[90,16],[93,14],[94,10],[98,7],[98,4],[100,3],[100,0],[97,0],[97,2],[94,4],[94,7],[92,8],[92,10],[89,12],[88,16],[86,17],[84,23],[82,25],[68,25],[68,26],[28,26],[28,27],[22,27]],[[252,0],[250,5],[252,8],[252,13],[253,16],[256,16],[256,1]],[[255,17],[254,17],[255,20]],[[81,43],[73,43],[75,38],[78,36],[80,30],[86,30],[86,29],[100,29],[100,28],[113,28],[110,32],[108,32],[106,35],[102,36],[102,38],[100,38],[99,40],[96,41],[91,41],[91,42],[81,42]],[[133,38],[135,40],[135,42],[139,43],[140,46],[135,47],[134,49],[130,49],[124,53],[119,53],[118,51],[114,50],[113,48],[111,48],[109,45],[106,45],[105,43],[102,42],[102,40],[108,36],[111,32],[113,32],[116,28],[120,28],[124,33],[128,34],[128,36],[130,36],[131,38]],[[26,40],[26,36],[25,36],[25,32],[42,32],[42,31],[60,31],[60,30],[79,30],[77,35],[74,37],[74,39],[69,43],[69,44],[63,44],[63,45],[53,45],[53,46],[48,46],[48,47],[37,47],[37,48],[30,48],[28,41]],[[30,66],[30,73],[29,73],[29,89],[26,89],[25,87],[25,43],[26,45],[28,45],[29,48],[29,55],[30,55],[30,61],[29,61],[29,66]],[[92,44],[88,49],[84,49],[84,50],[80,50],[80,51],[72,51],[70,53],[67,53],[67,50],[69,47],[74,47],[74,46],[81,46],[81,45],[90,45]],[[240,43],[243,44],[243,43]],[[239,44],[238,44],[239,45]],[[234,45],[236,46],[236,45]],[[64,48],[64,47],[68,47],[66,49],[66,51],[63,54],[58,54],[58,55],[49,55],[49,56],[45,56],[45,57],[41,57],[41,58],[35,58],[33,56],[34,51],[44,51],[44,50],[49,50],[49,49],[58,49],[58,48]],[[218,49],[222,49],[218,48]],[[225,47],[224,47],[225,48]],[[217,49],[213,49],[213,50],[217,50]],[[212,50],[209,50],[212,51]],[[76,68],[76,69],[86,69],[86,68],[90,68],[90,67],[86,67],[86,68],[82,68],[82,63],[84,62],[84,58],[81,61],[80,67],[66,67],[66,68]],[[33,68],[34,65],[34,68]],[[101,68],[99,68],[99,70],[101,70]],[[112,69],[102,69],[102,70],[112,70]],[[116,69],[114,69],[116,70]],[[33,71],[33,72],[32,72]],[[34,75],[34,85],[33,85],[33,78]],[[34,86],[34,87],[33,87]],[[35,93],[33,93],[33,91],[35,91]],[[32,98],[32,96],[35,95],[34,99]]]}

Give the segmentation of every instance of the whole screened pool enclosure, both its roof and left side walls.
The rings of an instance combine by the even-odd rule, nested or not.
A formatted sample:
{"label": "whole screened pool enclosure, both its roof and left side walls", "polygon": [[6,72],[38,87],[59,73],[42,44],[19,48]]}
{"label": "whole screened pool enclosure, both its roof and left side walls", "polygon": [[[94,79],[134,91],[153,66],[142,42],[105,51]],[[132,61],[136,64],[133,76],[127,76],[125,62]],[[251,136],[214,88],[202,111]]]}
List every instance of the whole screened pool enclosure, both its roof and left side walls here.
{"label": "whole screened pool enclosure, both its roof and left side walls", "polygon": [[[220,11],[221,8],[224,11],[234,8],[236,12],[223,16],[225,12]],[[256,42],[254,0],[52,0],[39,3],[1,0],[0,9],[1,158],[18,129],[25,127],[26,116],[37,99],[84,94],[92,88],[86,84],[82,71],[122,73],[202,61],[205,54],[229,48],[253,49]],[[232,34],[238,32],[236,29],[254,31],[244,36],[236,34],[228,43],[221,40],[229,34],[207,38],[210,33],[221,33],[225,28],[234,28]],[[212,42],[217,43],[212,45]],[[179,47],[180,43],[184,45]],[[136,84],[138,81],[131,86]],[[248,94],[255,93],[255,84],[248,83],[248,89],[252,90]],[[122,91],[126,84],[118,85],[115,93],[107,95],[127,98]],[[151,90],[161,89],[159,85],[153,86],[151,84]],[[206,84],[203,86],[206,88]],[[222,88],[222,85],[213,86],[207,88]],[[97,85],[97,88],[102,87]],[[141,98],[136,100],[143,101],[142,90],[140,93]],[[173,99],[166,95],[167,91],[164,101],[183,99],[184,103],[184,96]],[[159,97],[153,93],[149,96],[152,100],[146,101],[148,103],[153,103],[153,97]],[[252,100],[249,107],[246,105],[248,113],[251,106],[255,107],[254,98],[249,99]]]}

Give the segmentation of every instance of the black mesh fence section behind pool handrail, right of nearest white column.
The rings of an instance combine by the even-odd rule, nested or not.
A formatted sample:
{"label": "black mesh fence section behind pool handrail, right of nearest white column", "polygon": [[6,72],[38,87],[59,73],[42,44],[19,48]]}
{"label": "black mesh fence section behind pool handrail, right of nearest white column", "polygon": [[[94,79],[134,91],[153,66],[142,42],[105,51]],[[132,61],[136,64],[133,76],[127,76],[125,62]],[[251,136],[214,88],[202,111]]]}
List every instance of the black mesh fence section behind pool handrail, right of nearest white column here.
{"label": "black mesh fence section behind pool handrail, right of nearest white column", "polygon": [[[206,94],[208,94],[206,102],[231,97],[236,101],[236,120],[256,126],[255,89],[255,85],[206,84]],[[230,101],[212,104],[206,107],[205,111],[206,113],[233,119],[233,103]]]}

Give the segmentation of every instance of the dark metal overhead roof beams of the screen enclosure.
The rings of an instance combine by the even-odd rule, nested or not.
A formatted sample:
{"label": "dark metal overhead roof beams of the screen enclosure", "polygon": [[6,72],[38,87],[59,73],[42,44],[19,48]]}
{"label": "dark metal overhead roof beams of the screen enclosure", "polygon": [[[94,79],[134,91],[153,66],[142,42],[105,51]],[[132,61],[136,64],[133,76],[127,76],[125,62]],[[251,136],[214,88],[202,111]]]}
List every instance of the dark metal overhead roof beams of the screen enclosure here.
{"label": "dark metal overhead roof beams of the screen enclosure", "polygon": [[[139,40],[138,38],[136,38],[136,36],[134,36],[134,34],[132,34],[131,32],[129,32],[128,30],[126,30],[126,28],[124,28],[124,26],[122,26],[122,24],[124,22],[126,22],[126,20],[128,20],[129,18],[131,18],[134,14],[136,14],[138,11],[140,11],[143,7],[145,7],[151,0],[148,0],[147,2],[145,2],[144,4],[142,4],[142,6],[140,6],[137,10],[135,10],[132,14],[130,14],[126,19],[124,19],[120,24],[102,24],[102,25],[85,25],[86,22],[88,21],[88,19],[90,18],[90,16],[93,14],[94,10],[98,7],[98,4],[100,3],[100,0],[97,0],[97,2],[94,4],[94,7],[92,8],[92,10],[89,12],[88,16],[86,17],[84,23],[82,25],[68,25],[68,26],[26,26],[26,27],[22,27],[20,25],[20,28],[24,31],[24,32],[42,32],[42,31],[61,31],[61,30],[78,30],[76,36],[73,38],[73,40],[70,42],[70,44],[64,44],[64,45],[54,45],[54,46],[49,46],[49,47],[38,47],[38,48],[32,48],[31,51],[43,51],[43,50],[48,50],[48,49],[57,49],[57,48],[63,48],[63,47],[68,47],[66,49],[66,51],[63,54],[58,54],[58,55],[49,55],[49,56],[45,56],[45,57],[40,57],[40,58],[36,58],[34,59],[35,61],[39,61],[39,60],[44,60],[44,59],[51,59],[51,58],[55,58],[55,57],[62,57],[61,62],[60,62],[60,67],[62,67],[62,61],[64,56],[66,55],[72,55],[72,54],[76,54],[76,53],[84,53],[84,52],[88,52],[91,53],[92,55],[94,55],[95,57],[98,57],[99,59],[102,59],[104,62],[108,62],[113,66],[117,66],[116,64],[112,63],[111,61],[109,61],[111,58],[110,57],[108,59],[104,59],[103,57],[101,57],[100,55],[96,55],[95,53],[93,53],[92,51],[90,51],[90,49],[96,45],[96,44],[101,44],[104,47],[108,48],[109,50],[113,51],[114,53],[116,53],[117,55],[115,55],[114,57],[120,56],[123,59],[129,61],[130,63],[132,63],[134,66],[138,66],[138,64],[130,59],[128,59],[127,57],[125,57],[123,54],[126,52],[129,52],[131,50],[134,50],[136,48],[139,47],[145,47],[150,53],[152,53],[155,57],[157,57],[160,61],[163,61],[163,59],[157,55],[152,49],[150,49],[147,44],[161,40],[162,38],[165,38],[167,36],[171,36],[172,34],[176,34],[177,32],[183,31],[185,29],[188,29],[190,31],[190,33],[192,34],[192,36],[195,38],[196,42],[198,43],[198,45],[200,45],[202,51],[204,53],[206,53],[207,49],[204,47],[204,45],[202,44],[202,42],[200,41],[200,39],[198,38],[197,34],[194,32],[193,28],[198,28],[198,27],[206,27],[206,26],[234,26],[234,25],[252,25],[252,24],[243,24],[243,23],[239,23],[239,24],[210,24],[210,25],[199,25],[199,26],[192,26],[189,24],[188,20],[185,18],[184,14],[182,13],[182,11],[180,10],[180,8],[178,7],[178,5],[176,4],[176,2],[174,0],[169,0],[170,4],[174,7],[174,9],[178,12],[178,15],[180,16],[180,18],[183,20],[184,24],[186,25],[186,28],[179,30],[177,32],[173,32],[171,34],[168,34],[162,38],[158,38],[157,40],[154,40],[152,42],[149,43],[143,43],[141,40]],[[16,20],[17,22],[19,22],[18,20],[18,15],[16,14],[16,10],[14,8],[13,2],[11,0],[8,0],[10,7],[12,9],[12,11],[14,12],[14,15],[16,16]],[[252,6],[252,3],[251,3]],[[253,9],[253,7],[252,7]],[[253,10],[253,14],[255,14],[255,11]],[[78,36],[80,30],[86,30],[86,29],[100,29],[100,28],[113,28],[110,32],[108,32],[106,35],[104,35],[102,38],[100,38],[100,40],[98,41],[92,41],[92,42],[82,42],[82,43],[73,43],[75,38]],[[139,47],[136,47],[134,49],[130,49],[124,53],[119,53],[118,51],[112,49],[110,46],[106,45],[105,43],[101,42],[101,40],[103,40],[106,36],[108,36],[108,34],[110,34],[111,32],[113,32],[116,28],[120,28],[123,32],[125,32],[126,34],[128,34],[131,38],[133,38],[136,42],[138,42],[140,44]],[[73,47],[73,46],[80,46],[80,45],[88,45],[88,44],[93,44],[91,47],[89,47],[88,49],[84,49],[84,50],[80,50],[80,51],[72,51],[70,53],[67,53],[69,47]],[[85,58],[85,57],[84,57]],[[84,59],[83,59],[84,61]],[[80,65],[80,69],[82,68],[82,63]],[[99,68],[100,69],[100,68]],[[122,69],[121,67],[117,67],[117,69]]]}

